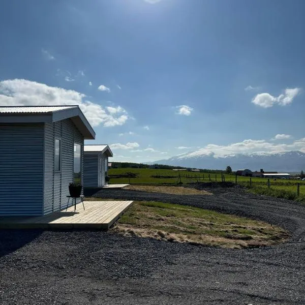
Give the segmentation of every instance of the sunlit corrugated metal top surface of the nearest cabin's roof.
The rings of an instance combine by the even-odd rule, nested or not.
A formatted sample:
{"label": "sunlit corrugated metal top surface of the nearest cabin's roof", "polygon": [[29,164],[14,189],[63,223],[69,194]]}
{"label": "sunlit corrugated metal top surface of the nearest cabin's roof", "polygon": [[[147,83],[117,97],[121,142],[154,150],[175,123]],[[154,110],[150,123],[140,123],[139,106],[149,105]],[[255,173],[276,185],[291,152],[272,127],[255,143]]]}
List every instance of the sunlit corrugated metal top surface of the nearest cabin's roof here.
{"label": "sunlit corrugated metal top surface of the nearest cabin's roof", "polygon": [[47,113],[75,107],[77,106],[11,106],[0,107],[0,113]]}

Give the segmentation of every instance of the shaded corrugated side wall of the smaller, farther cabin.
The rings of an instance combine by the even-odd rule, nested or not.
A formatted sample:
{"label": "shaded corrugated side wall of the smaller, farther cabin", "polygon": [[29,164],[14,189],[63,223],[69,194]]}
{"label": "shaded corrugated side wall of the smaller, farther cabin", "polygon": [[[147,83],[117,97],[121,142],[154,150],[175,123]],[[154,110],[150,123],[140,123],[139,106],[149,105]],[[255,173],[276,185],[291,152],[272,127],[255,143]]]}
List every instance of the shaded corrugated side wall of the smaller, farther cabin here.
{"label": "shaded corrugated side wall of the smaller, farther cabin", "polygon": [[84,155],[84,187],[99,187],[99,156]]}

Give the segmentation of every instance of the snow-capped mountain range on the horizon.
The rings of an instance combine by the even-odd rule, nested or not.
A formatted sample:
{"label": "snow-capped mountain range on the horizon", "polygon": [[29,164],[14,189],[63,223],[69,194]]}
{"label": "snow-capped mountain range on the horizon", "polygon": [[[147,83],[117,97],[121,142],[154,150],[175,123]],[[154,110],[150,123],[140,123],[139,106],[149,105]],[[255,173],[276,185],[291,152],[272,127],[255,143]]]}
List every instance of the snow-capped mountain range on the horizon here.
{"label": "snow-capped mountain range on the horizon", "polygon": [[198,150],[153,162],[155,163],[206,169],[225,169],[230,165],[232,170],[248,168],[259,171],[263,168],[265,171],[299,172],[305,170],[305,153],[292,150],[275,154],[247,153],[217,156],[214,153]]}

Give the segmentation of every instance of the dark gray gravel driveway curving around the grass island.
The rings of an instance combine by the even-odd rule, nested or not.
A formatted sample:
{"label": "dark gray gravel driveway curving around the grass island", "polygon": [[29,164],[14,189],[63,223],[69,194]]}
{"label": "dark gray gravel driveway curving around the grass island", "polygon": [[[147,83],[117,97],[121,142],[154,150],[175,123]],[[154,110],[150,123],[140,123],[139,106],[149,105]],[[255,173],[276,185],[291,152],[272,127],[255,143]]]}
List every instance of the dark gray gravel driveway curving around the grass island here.
{"label": "dark gray gravel driveway curving around the grass island", "polygon": [[231,250],[99,231],[0,231],[0,304],[305,304],[305,207],[236,189],[211,196],[102,190],[248,216],[288,229],[278,247]]}

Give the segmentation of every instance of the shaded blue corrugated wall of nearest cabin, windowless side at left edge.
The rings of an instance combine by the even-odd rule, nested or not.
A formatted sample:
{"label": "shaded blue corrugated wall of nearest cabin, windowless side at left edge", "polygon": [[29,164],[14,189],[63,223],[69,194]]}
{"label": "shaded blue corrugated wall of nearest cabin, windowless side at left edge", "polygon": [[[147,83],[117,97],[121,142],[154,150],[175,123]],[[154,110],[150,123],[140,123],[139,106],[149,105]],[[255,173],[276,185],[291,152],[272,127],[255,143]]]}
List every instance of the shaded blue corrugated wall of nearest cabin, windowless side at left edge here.
{"label": "shaded blue corrugated wall of nearest cabin, windowless side at left edge", "polygon": [[42,215],[43,124],[0,123],[0,214]]}

